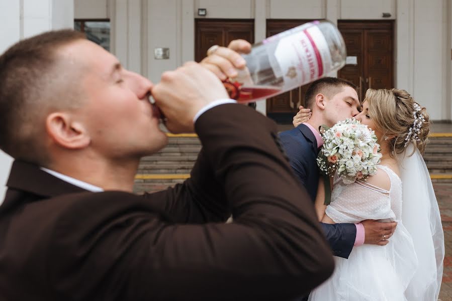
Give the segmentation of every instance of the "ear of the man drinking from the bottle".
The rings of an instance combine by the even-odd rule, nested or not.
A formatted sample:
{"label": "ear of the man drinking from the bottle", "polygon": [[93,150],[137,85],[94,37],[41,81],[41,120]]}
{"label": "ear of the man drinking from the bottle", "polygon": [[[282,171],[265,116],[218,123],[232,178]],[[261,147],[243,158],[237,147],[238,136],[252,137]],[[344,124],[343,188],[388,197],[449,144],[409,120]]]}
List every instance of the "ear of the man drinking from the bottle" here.
{"label": "ear of the man drinking from the bottle", "polygon": [[80,149],[91,142],[83,124],[73,120],[69,113],[49,114],[46,118],[46,130],[56,144],[65,148]]}

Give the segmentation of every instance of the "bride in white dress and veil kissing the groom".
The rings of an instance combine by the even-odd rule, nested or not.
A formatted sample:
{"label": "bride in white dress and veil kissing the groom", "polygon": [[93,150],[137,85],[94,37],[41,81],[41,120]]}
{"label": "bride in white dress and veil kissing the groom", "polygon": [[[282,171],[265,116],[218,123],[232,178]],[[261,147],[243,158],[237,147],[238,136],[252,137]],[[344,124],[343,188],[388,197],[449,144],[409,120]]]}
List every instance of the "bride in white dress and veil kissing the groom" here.
{"label": "bride in white dress and veil kissing the groom", "polygon": [[333,275],[311,292],[309,300],[437,300],[444,237],[421,156],[429,116],[405,90],[369,89],[355,118],[375,130],[379,139],[383,157],[378,172],[349,185],[336,175],[328,206],[323,206],[320,183],[316,200],[320,220],[397,221],[397,228],[386,246],[363,245],[353,248],[348,259],[335,257]]}

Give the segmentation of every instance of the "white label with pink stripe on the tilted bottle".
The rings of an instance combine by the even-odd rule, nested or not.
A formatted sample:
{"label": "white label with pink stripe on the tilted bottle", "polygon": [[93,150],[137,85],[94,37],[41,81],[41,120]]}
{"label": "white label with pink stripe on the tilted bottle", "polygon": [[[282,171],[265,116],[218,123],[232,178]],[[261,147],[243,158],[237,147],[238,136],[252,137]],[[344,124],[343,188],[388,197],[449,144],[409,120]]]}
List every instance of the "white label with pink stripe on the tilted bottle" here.
{"label": "white label with pink stripe on the tilted bottle", "polygon": [[284,90],[312,82],[330,72],[328,44],[317,26],[282,38],[275,57],[284,79]]}

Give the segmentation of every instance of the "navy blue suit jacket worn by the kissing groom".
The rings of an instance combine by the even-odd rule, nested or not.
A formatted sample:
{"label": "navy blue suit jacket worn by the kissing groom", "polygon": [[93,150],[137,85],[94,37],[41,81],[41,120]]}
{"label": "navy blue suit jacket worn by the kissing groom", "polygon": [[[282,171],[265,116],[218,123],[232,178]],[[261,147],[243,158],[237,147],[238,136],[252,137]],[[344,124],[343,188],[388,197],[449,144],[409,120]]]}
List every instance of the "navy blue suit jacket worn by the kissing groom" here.
{"label": "navy blue suit jacket worn by the kissing groom", "polygon": [[[296,128],[281,132],[279,136],[292,169],[314,202],[319,183],[319,168],[316,162],[319,149],[314,134],[305,124],[300,124]],[[348,258],[356,239],[356,226],[321,224],[333,254]]]}

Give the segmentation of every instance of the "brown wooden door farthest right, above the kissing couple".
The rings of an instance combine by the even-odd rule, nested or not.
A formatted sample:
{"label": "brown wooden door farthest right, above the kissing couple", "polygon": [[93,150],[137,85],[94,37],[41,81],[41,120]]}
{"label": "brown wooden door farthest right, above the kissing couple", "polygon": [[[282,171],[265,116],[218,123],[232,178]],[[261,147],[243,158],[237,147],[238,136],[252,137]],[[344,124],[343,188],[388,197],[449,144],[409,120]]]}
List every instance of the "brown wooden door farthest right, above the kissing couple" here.
{"label": "brown wooden door farthest right, above the kissing couple", "polygon": [[356,64],[347,64],[337,76],[358,87],[362,101],[369,88],[394,87],[394,21],[339,21],[348,57]]}

